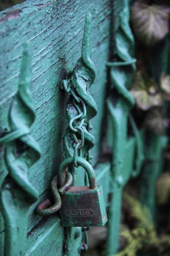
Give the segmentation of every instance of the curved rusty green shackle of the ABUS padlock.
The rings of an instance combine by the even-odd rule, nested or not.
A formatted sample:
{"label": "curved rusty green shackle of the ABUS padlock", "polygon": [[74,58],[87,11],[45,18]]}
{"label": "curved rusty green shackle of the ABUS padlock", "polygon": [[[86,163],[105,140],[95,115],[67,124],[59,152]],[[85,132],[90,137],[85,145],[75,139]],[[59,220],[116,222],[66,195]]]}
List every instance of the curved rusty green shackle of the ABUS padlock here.
{"label": "curved rusty green shackle of the ABUS padlock", "polygon": [[[73,164],[73,157],[68,157],[66,158],[60,165],[59,170],[58,170],[58,180],[60,187],[62,187],[65,184],[66,181],[66,168]],[[77,164],[85,169],[88,175],[88,180],[89,180],[89,187],[90,189],[94,189],[97,187],[97,182],[96,182],[96,175],[94,172],[94,169],[90,165],[89,162],[87,162],[84,158],[82,157],[77,157]]]}

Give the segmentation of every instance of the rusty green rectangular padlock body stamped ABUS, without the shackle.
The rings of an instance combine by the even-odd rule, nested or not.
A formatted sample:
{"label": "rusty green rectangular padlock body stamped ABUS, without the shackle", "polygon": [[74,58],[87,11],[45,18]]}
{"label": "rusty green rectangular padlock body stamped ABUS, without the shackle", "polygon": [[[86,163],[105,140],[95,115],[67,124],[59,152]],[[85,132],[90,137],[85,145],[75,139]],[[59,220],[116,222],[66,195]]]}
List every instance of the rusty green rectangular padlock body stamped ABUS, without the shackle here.
{"label": "rusty green rectangular padlock body stamped ABUS, without the shackle", "polygon": [[60,217],[65,227],[103,226],[107,222],[102,186],[71,186],[61,200]]}

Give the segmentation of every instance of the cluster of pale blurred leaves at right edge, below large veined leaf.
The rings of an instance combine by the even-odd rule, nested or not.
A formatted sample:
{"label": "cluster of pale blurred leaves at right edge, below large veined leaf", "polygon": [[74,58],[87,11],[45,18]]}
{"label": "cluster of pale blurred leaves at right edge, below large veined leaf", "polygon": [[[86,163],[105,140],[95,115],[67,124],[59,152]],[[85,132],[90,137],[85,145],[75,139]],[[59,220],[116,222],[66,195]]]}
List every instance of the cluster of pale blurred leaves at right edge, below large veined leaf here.
{"label": "cluster of pale blurred leaves at right edge, below large veined leaf", "polygon": [[136,73],[131,94],[136,100],[137,108],[145,113],[143,126],[162,134],[169,122],[163,118],[162,105],[164,100],[170,100],[170,76],[162,74],[160,76],[160,87],[146,73],[138,71]]}

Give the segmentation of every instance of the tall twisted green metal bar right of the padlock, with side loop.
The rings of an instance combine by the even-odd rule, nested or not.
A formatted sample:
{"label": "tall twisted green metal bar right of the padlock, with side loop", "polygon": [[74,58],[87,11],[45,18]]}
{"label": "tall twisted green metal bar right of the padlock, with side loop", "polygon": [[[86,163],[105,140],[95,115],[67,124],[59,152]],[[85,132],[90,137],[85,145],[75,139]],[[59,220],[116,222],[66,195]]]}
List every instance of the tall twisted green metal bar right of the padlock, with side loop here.
{"label": "tall twisted green metal bar right of the padlock, with side loop", "polygon": [[[111,256],[118,250],[118,238],[121,216],[122,189],[130,176],[136,176],[141,168],[143,153],[142,142],[132,117],[130,122],[136,136],[136,170],[123,175],[125,145],[127,142],[128,116],[135,104],[128,89],[132,84],[136,59],[132,58],[134,38],[129,26],[129,1],[114,1],[114,62],[108,62],[110,69],[111,90],[107,99],[109,116],[114,127],[114,146],[112,162],[112,195],[108,216],[106,255]],[[129,66],[130,65],[130,66]],[[125,67],[126,66],[126,67]],[[116,96],[115,96],[116,91]]]}

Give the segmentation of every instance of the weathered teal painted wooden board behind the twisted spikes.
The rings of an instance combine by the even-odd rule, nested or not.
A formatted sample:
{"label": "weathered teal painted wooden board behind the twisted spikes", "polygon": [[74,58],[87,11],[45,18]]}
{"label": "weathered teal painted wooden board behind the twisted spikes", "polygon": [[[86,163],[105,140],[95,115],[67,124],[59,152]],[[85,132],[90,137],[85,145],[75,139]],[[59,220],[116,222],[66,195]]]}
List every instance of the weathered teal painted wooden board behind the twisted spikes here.
{"label": "weathered teal painted wooden board behind the twisted spikes", "polygon": [[[40,145],[42,156],[28,172],[29,181],[40,194],[36,203],[29,208],[27,228],[29,232],[41,221],[41,217],[35,215],[34,209],[38,202],[46,197],[51,197],[50,181],[63,159],[61,137],[66,126],[66,97],[60,91],[59,84],[65,78],[66,72],[73,69],[75,60],[80,57],[84,18],[87,11],[90,11],[93,16],[92,61],[96,66],[96,79],[90,88],[90,94],[94,97],[99,111],[99,114],[92,120],[92,134],[96,138],[96,144],[91,152],[93,165],[96,165],[100,159],[101,124],[106,91],[105,62],[109,52],[109,25],[112,10],[110,1],[107,0],[101,2],[78,0],[71,2],[26,1],[14,6],[12,10],[16,10],[13,17],[3,14],[4,12],[0,13],[2,42],[0,75],[3,81],[0,87],[0,131],[4,132],[5,128],[9,128],[7,113],[12,97],[17,91],[22,45],[24,41],[30,40],[32,57],[31,95],[36,105],[36,119],[31,127],[31,134]],[[3,150],[0,154],[2,159]],[[3,180],[6,175],[6,168],[3,161],[0,162],[0,165]],[[79,184],[83,184],[81,172],[77,175],[77,181]],[[4,225],[2,217],[0,217],[0,221],[0,237],[3,244]],[[49,233],[49,241],[52,236],[54,236],[54,232]],[[74,232],[68,230],[67,237],[68,239],[74,238]],[[56,238],[60,240],[60,243],[63,241],[63,237],[58,236],[57,233]],[[30,236],[29,239],[31,239]],[[42,239],[44,238],[42,237]],[[70,255],[79,254],[81,240],[80,235],[75,240]],[[36,246],[37,252],[42,250],[43,253],[45,250],[43,240],[41,245],[37,244]],[[41,247],[42,249],[40,249]],[[68,248],[65,247],[67,252]],[[69,248],[71,248],[71,244]],[[3,247],[0,250],[0,254],[2,254]],[[28,250],[31,249],[28,248]],[[51,247],[50,253],[53,255],[54,252],[56,251]]]}

